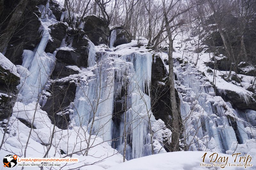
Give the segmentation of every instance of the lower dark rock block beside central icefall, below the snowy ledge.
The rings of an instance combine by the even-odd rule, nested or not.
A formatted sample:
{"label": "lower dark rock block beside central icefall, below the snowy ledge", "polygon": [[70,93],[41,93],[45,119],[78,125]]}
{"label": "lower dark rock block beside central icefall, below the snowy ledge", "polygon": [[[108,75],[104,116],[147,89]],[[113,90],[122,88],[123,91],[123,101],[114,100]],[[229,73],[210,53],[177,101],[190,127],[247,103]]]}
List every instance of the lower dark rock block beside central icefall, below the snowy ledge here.
{"label": "lower dark rock block beside central icefall, below the snowy ledge", "polygon": [[54,123],[54,115],[56,125],[66,129],[70,121],[68,109],[76,95],[76,84],[72,80],[54,81],[47,91],[52,96],[49,96],[42,110],[47,112],[52,123]]}

